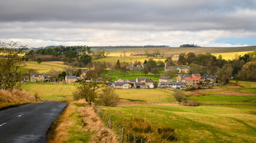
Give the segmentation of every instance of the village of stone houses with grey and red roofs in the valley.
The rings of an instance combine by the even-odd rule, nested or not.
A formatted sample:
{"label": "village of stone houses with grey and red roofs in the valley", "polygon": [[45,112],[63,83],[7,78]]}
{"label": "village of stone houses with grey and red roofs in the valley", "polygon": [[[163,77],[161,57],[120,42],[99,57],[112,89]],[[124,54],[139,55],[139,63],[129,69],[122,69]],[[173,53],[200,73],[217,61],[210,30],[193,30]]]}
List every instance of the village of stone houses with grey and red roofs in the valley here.
{"label": "village of stone houses with grey and red roofs in the valley", "polygon": [[[177,56],[173,56],[174,58]],[[179,58],[179,57],[178,57]],[[175,60],[175,59],[173,59]],[[141,71],[146,64],[139,64],[136,67],[129,65],[127,70],[136,69]],[[93,67],[91,70],[95,70]],[[150,77],[137,77],[136,79],[121,79],[116,77],[111,82],[106,83],[114,89],[147,89],[147,88],[173,88],[183,89],[187,86],[216,86],[216,76],[201,76],[200,74],[188,74],[188,66],[168,66],[168,62],[165,63],[164,71],[176,70],[178,75],[173,79],[170,76],[160,76],[158,80],[152,80]],[[44,73],[31,73],[31,76],[26,76],[25,82],[61,82],[61,83],[79,83],[82,80],[91,82],[90,79],[86,79],[86,73],[89,69],[82,69],[80,76],[65,76],[62,81],[50,80],[49,76]],[[113,81],[115,80],[115,81]]]}

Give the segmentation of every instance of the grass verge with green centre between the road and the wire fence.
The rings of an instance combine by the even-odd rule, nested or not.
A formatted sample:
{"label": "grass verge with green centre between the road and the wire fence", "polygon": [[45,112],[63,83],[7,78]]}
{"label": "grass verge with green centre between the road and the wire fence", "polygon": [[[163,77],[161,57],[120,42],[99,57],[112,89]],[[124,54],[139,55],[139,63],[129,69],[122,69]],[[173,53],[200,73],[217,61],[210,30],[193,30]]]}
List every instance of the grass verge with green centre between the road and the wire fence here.
{"label": "grass verge with green centre between the road and the wire fence", "polygon": [[48,134],[49,143],[118,142],[115,133],[106,129],[94,109],[84,100],[71,102]]}

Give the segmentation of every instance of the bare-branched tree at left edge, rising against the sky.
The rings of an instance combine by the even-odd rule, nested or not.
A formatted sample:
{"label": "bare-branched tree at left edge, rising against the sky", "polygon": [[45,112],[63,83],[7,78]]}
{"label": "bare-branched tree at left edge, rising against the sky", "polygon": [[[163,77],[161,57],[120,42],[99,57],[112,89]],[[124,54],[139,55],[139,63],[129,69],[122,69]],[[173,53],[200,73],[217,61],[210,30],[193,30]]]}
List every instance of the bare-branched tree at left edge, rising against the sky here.
{"label": "bare-branched tree at left edge, rising against the sky", "polygon": [[24,67],[22,57],[19,56],[27,45],[17,42],[5,43],[0,41],[0,52],[5,52],[5,57],[0,58],[0,89],[12,90],[20,74],[17,70]]}

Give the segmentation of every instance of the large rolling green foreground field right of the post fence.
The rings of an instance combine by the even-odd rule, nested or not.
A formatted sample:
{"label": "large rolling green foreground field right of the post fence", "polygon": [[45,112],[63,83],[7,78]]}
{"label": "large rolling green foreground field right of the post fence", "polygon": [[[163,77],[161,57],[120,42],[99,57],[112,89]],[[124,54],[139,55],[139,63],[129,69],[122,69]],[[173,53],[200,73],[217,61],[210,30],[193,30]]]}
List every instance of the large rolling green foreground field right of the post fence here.
{"label": "large rolling green foreground field right of the post fence", "polygon": [[131,117],[142,117],[152,125],[146,133],[152,142],[164,142],[157,133],[161,126],[176,129],[179,142],[254,142],[255,106],[122,105],[102,107],[113,122],[127,126]]}

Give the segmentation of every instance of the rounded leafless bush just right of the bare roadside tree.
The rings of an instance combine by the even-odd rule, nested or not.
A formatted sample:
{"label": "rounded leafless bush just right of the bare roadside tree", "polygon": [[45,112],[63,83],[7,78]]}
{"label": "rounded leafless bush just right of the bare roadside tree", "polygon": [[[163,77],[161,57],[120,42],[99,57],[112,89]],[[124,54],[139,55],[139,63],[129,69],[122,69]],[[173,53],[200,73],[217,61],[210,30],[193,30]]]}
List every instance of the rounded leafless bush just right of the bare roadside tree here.
{"label": "rounded leafless bush just right of the bare roadside tree", "polygon": [[98,98],[98,104],[104,106],[116,106],[119,102],[118,94],[110,86],[106,86]]}

